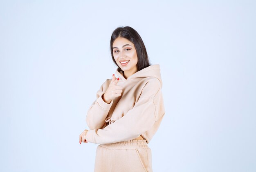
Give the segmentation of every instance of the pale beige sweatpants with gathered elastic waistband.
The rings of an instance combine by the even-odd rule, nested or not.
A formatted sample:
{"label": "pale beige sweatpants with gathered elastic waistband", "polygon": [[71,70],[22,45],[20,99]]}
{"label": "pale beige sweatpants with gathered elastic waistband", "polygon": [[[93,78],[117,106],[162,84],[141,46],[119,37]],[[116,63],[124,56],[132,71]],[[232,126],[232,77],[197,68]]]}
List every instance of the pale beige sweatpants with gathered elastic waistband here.
{"label": "pale beige sweatpants with gathered elastic waistband", "polygon": [[153,172],[151,149],[145,139],[100,144],[94,172]]}

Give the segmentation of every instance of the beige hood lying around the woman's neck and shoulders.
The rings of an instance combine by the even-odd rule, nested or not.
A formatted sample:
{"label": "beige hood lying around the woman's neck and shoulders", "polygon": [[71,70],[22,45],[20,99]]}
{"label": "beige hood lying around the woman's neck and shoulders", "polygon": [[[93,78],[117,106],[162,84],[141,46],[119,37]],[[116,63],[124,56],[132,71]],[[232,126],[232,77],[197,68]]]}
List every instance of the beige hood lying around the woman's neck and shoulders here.
{"label": "beige hood lying around the woman's neck and shoulders", "polygon": [[117,74],[119,76],[120,81],[118,81],[118,82],[125,82],[125,81],[138,82],[145,77],[155,77],[160,81],[161,87],[162,87],[162,78],[161,78],[161,74],[160,74],[160,65],[159,64],[150,65],[148,67],[145,67],[144,69],[142,69],[138,72],[135,72],[134,74],[129,76],[127,79],[124,78],[123,72],[121,70],[119,71],[118,68],[116,69],[115,74]]}

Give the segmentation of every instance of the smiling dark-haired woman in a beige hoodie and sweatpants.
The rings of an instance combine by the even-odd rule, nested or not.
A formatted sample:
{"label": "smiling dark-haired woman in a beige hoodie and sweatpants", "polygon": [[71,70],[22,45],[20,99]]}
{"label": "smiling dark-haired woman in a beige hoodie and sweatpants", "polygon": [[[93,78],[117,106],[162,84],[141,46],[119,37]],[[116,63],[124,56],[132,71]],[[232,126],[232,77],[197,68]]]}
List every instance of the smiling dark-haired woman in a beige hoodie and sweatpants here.
{"label": "smiling dark-haired woman in a beige hoodie and sweatpants", "polygon": [[148,143],[164,117],[159,65],[150,65],[144,43],[133,28],[118,27],[111,36],[117,65],[90,106],[79,143],[99,144],[94,172],[152,172]]}

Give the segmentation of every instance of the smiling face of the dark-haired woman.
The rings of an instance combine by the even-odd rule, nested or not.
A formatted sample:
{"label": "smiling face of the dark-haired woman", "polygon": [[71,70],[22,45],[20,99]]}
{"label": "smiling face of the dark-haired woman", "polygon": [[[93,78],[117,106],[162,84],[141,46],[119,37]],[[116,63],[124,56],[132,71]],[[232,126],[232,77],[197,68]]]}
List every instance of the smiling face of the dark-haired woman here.
{"label": "smiling face of the dark-haired woman", "polygon": [[[125,74],[132,75],[137,72],[138,57],[135,46],[131,41],[123,37],[117,37],[113,42],[112,48],[114,59]],[[124,63],[122,64],[121,62]]]}

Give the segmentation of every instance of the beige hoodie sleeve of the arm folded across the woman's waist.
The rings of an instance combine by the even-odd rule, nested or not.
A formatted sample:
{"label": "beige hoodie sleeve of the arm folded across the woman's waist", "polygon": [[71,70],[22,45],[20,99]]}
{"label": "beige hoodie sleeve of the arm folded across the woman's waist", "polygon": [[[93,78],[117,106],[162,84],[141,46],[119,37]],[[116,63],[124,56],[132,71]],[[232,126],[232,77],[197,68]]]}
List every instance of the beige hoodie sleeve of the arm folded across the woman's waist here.
{"label": "beige hoodie sleeve of the arm folded across the woman's waist", "polygon": [[143,87],[134,107],[126,115],[103,129],[87,132],[87,142],[108,144],[129,141],[148,131],[156,122],[157,98],[161,94],[161,84],[157,79],[150,80]]}

